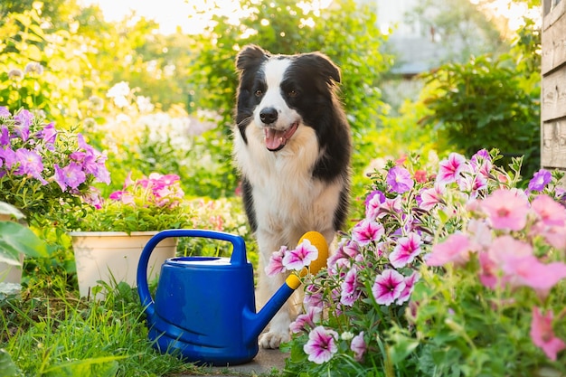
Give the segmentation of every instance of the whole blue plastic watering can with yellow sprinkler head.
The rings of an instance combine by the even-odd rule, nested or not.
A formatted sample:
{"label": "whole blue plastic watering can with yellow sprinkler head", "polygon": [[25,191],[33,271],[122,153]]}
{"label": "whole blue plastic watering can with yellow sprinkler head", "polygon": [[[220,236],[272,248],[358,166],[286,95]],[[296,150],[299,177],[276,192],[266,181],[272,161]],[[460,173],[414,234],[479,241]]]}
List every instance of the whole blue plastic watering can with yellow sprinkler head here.
{"label": "whole blue plastic watering can with yellow sprinkler head", "polygon": [[[316,241],[312,243],[319,250],[319,258],[311,264],[313,273],[322,267],[321,261],[325,265],[328,255],[324,238],[315,233],[303,236],[314,234]],[[231,258],[165,260],[154,301],[147,287],[147,263],[157,243],[168,237],[229,241],[233,246]],[[244,240],[221,231],[161,231],[147,242],[137,266],[137,292],[146,310],[149,338],[160,352],[175,353],[192,363],[250,362],[259,351],[259,334],[299,286],[297,276],[290,275],[256,313],[253,270],[246,258]]]}

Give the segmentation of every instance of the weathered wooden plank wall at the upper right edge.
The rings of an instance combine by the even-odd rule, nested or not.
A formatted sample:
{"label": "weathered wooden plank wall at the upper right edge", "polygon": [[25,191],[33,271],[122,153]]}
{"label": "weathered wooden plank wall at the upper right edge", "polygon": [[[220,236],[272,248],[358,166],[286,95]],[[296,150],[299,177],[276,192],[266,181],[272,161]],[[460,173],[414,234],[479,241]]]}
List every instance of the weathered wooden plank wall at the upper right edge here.
{"label": "weathered wooden plank wall at the upper right edge", "polygon": [[566,0],[542,12],[541,164],[566,170]]}

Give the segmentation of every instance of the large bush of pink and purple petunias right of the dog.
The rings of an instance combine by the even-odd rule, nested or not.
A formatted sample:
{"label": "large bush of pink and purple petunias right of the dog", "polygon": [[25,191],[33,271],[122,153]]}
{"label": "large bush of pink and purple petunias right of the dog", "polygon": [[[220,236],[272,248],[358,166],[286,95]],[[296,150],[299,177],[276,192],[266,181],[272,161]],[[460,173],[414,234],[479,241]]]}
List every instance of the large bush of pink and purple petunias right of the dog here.
{"label": "large bush of pink and purple petunias right of the dog", "polygon": [[498,158],[411,156],[373,174],[365,218],[303,278],[289,374],[564,375],[561,174],[519,189],[521,159]]}

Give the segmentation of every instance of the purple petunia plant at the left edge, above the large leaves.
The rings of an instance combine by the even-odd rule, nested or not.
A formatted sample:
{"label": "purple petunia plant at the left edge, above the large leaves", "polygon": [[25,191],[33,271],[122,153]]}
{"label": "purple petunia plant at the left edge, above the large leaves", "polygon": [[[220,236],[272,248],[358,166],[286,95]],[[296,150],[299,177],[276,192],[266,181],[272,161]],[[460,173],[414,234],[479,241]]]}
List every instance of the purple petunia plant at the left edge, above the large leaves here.
{"label": "purple petunia plant at the left edge, above the large leaves", "polygon": [[92,184],[109,183],[105,160],[80,133],[58,130],[26,109],[0,107],[0,200],[27,221],[49,220],[64,203],[95,203]]}

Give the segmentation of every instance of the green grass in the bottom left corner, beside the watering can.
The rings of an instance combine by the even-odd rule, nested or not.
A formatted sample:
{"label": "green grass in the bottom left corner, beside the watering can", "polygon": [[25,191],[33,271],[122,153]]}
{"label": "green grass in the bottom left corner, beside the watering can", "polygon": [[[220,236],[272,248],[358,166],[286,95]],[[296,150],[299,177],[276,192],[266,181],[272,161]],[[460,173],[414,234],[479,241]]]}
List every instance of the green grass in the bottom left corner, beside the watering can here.
{"label": "green grass in the bottom left corner, beside the watering can", "polygon": [[[134,289],[121,283],[99,302],[67,292],[66,278],[35,284],[0,301],[0,376],[166,376],[199,373],[157,353]],[[3,364],[4,363],[4,364]]]}

